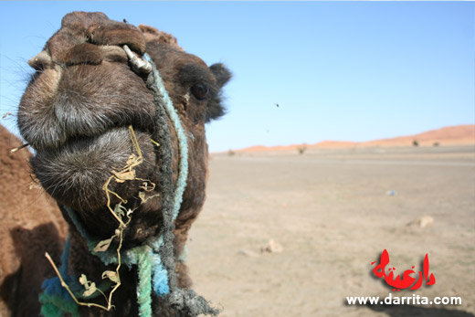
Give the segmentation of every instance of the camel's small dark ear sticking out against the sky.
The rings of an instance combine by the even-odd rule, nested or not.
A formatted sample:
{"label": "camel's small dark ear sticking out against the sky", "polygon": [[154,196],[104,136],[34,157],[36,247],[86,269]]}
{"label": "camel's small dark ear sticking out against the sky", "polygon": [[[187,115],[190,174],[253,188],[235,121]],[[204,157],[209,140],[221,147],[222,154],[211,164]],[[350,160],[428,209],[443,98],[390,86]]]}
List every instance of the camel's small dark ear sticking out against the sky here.
{"label": "camel's small dark ear sticking out against the sky", "polygon": [[206,122],[215,120],[226,114],[226,109],[223,105],[222,88],[227,81],[231,79],[232,74],[223,64],[213,64],[209,67],[216,78],[216,88],[212,90],[211,99],[207,104]]}

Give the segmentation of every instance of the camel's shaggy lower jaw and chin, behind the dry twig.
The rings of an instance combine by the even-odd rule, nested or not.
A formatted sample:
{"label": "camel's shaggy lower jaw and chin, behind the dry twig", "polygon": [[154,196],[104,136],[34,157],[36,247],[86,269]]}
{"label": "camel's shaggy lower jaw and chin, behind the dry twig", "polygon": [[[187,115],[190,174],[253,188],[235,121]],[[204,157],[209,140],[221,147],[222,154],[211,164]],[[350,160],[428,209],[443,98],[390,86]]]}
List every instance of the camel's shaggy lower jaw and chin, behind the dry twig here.
{"label": "camel's shaggy lower jaw and chin, behind the dry twig", "polygon": [[[117,227],[109,206],[113,209],[121,202],[119,195],[127,201],[122,202],[124,207],[141,214],[134,217],[127,236],[131,240],[143,240],[160,229],[160,163],[151,135],[135,134],[142,153],[142,164],[133,167],[135,179],[123,182],[111,179],[127,165],[132,153],[137,155],[128,128],[114,128],[98,136],[73,139],[58,148],[39,150],[31,160],[33,172],[59,205],[76,210],[91,232],[100,232],[105,237]],[[108,201],[104,185],[110,179],[108,190],[114,194],[110,194]]]}

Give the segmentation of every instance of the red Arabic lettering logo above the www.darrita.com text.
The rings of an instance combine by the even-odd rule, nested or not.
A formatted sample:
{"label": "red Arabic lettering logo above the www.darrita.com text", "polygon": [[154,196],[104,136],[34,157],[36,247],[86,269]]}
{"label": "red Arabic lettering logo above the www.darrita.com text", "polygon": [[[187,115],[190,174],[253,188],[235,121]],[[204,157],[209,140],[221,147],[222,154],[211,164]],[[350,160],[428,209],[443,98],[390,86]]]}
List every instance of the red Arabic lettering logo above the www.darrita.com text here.
{"label": "red Arabic lettering logo above the www.darrita.com text", "polygon": [[[376,263],[372,262],[371,265]],[[412,269],[406,269],[403,272],[403,277],[401,275],[397,275],[395,278],[395,268],[388,269],[388,274],[385,272],[385,267],[389,263],[389,254],[387,251],[384,250],[381,253],[381,259],[379,260],[379,264],[375,266],[373,272],[378,278],[384,278],[387,285],[394,287],[393,291],[401,291],[403,289],[409,288],[409,290],[417,290],[422,286],[422,282],[426,280],[426,285],[434,285],[436,283],[436,278],[434,274],[430,273],[428,275],[428,254],[426,253],[426,257],[424,258],[424,263],[422,265],[422,272],[419,271],[418,278],[413,278],[411,274],[415,274],[416,272],[413,270],[415,267],[413,266]]]}

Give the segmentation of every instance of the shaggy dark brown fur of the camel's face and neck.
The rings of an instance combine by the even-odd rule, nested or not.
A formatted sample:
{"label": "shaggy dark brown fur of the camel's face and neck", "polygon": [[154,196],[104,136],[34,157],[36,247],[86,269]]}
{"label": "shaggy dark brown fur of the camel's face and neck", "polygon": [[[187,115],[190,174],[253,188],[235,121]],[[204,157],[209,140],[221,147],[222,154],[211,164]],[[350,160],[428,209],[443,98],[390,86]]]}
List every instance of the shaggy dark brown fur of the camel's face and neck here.
{"label": "shaggy dark brown fur of the camel's face and neck", "polygon": [[[97,281],[104,270],[113,267],[106,267],[90,255],[85,240],[71,225],[62,206],[76,210],[80,221],[96,238],[113,235],[118,224],[107,209],[102,185],[112,169],[118,170],[126,164],[133,151],[129,125],[136,132],[143,153],[144,163],[137,166],[137,177],[157,185],[160,177],[157,147],[150,142],[157,131],[153,96],[143,79],[130,69],[119,47],[124,44],[139,56],[146,51],[153,58],[188,136],[189,173],[174,229],[176,257],[182,253],[188,230],[205,201],[205,123],[224,114],[220,89],[230,79],[223,65],[208,68],[200,58],[179,48],[174,37],[151,26],[135,27],[111,21],[101,13],[74,12],[65,16],[61,28],[47,41],[44,50],[29,61],[37,72],[20,102],[18,127],[26,142],[36,150],[31,159],[33,173],[58,201],[69,222],[69,273],[85,273],[90,280]],[[176,181],[178,146],[174,129],[170,131]],[[138,197],[141,184],[136,180],[110,186],[127,199],[126,207],[136,208],[131,224],[124,231],[125,248],[159,235],[162,227],[161,197],[141,204]],[[155,194],[160,194],[160,188],[149,193]],[[111,206],[116,203],[118,200],[114,199]],[[179,263],[176,271],[179,286],[189,287],[185,264]],[[135,273],[134,269],[121,269],[122,285],[114,293],[116,311],[111,315],[137,315]],[[163,312],[163,306],[158,298],[153,299],[157,315]],[[95,308],[86,308],[81,314],[109,315]]]}

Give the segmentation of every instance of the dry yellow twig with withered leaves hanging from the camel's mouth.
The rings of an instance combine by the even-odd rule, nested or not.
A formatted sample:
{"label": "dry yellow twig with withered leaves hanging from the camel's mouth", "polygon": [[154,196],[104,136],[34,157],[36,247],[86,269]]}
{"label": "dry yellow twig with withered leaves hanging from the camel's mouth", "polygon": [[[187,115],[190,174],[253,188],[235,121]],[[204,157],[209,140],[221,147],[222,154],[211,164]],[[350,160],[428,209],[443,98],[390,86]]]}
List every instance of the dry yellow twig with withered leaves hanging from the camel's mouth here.
{"label": "dry yellow twig with withered leaves hanging from the camel's mouth", "polygon": [[[107,312],[111,311],[111,309],[115,307],[114,305],[112,305],[112,295],[114,291],[116,291],[121,286],[121,277],[119,274],[119,269],[121,269],[121,248],[122,248],[122,242],[123,242],[123,231],[131,222],[132,213],[136,209],[136,208],[127,209],[125,206],[123,206],[122,204],[127,204],[127,200],[123,199],[117,193],[111,191],[109,189],[109,185],[111,185],[111,182],[124,183],[127,181],[133,181],[133,180],[142,181],[142,185],[139,186],[142,189],[142,191],[139,192],[139,198],[141,199],[141,204],[145,203],[148,199],[156,195],[159,195],[159,194],[156,194],[156,195],[151,195],[151,196],[146,197],[147,192],[153,191],[153,189],[155,188],[155,184],[153,184],[150,180],[136,177],[134,168],[143,163],[143,156],[142,156],[142,151],[139,147],[139,143],[137,142],[137,137],[135,136],[135,132],[133,131],[132,125],[129,126],[129,134],[131,136],[131,141],[137,154],[132,153],[129,156],[127,163],[120,171],[112,170],[111,177],[109,177],[107,182],[102,186],[102,189],[105,191],[106,196],[107,196],[107,207],[109,211],[111,212],[111,215],[115,217],[115,219],[118,221],[119,227],[117,227],[114,235],[111,238],[100,241],[96,245],[96,247],[93,249],[94,252],[105,252],[108,248],[110,248],[111,242],[113,240],[119,241],[118,247],[115,250],[117,254],[117,267],[115,268],[115,270],[106,270],[102,272],[102,279],[103,280],[108,279],[114,284],[112,284],[109,296],[107,296],[103,291],[100,290],[100,287],[96,286],[95,282],[88,280],[85,274],[81,274],[79,278],[79,283],[83,285],[85,289],[85,291],[82,292],[83,297],[86,297],[86,298],[90,297],[94,293],[99,291],[100,294],[104,297],[105,301],[107,302],[107,305],[100,305],[93,302],[79,301],[76,295],[74,295],[74,293],[69,289],[68,284],[61,277],[58,267],[55,265],[53,259],[51,259],[49,254],[47,253],[45,254],[48,261],[51,263],[53,269],[55,269],[56,274],[58,275],[58,278],[61,281],[61,286],[64,287],[69,292],[69,295],[78,305],[88,306],[88,307],[98,307]],[[155,144],[156,142],[152,140],[152,143]],[[158,143],[156,143],[156,145],[158,145]],[[119,203],[116,204],[113,208],[111,207],[111,195],[114,195],[119,199]]]}

